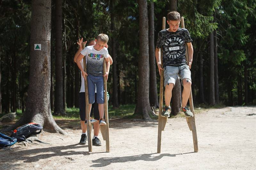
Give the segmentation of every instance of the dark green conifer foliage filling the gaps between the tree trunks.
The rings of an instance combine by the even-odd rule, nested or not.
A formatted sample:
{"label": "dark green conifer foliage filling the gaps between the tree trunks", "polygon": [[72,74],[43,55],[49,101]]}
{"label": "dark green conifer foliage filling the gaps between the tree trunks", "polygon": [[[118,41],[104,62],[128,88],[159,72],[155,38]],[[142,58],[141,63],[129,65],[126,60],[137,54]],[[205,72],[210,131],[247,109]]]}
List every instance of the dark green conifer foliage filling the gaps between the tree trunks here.
{"label": "dark green conifer foliage filling the gaps between the tree trunks", "polygon": [[[24,110],[28,80],[30,55],[30,1],[1,1],[0,6],[0,57],[1,92],[3,112],[12,108],[13,89],[17,89],[17,106]],[[55,1],[52,1],[51,57],[54,75],[55,58]],[[74,106],[75,70],[73,61],[77,51],[78,37],[84,41],[94,40],[99,33],[109,35],[109,54],[112,54],[112,39],[116,39],[118,75],[118,98],[120,110],[112,110],[115,116],[130,115],[137,101],[138,56],[139,56],[139,13],[136,1],[114,1],[111,11],[110,1],[64,0],[63,1],[63,57],[67,78],[67,116],[79,119]],[[170,0],[154,0],[155,41],[162,30],[162,17],[170,11]],[[185,19],[185,28],[193,40],[194,58],[192,66],[194,102],[199,101],[199,54],[203,56],[204,94],[208,99],[209,88],[209,34],[217,31],[220,100],[225,104],[237,104],[237,98],[245,100],[245,74],[248,71],[249,103],[256,103],[256,1],[255,0],[179,0],[178,11]],[[113,12],[115,20],[110,14]],[[65,21],[65,22],[64,22]],[[111,23],[116,30],[111,30]],[[167,25],[166,25],[167,26]],[[65,32],[64,32],[65,30]],[[147,43],[147,42],[145,42]],[[155,43],[156,44],[156,43]],[[147,61],[145,61],[147,62]],[[159,82],[158,71],[157,82]],[[147,83],[147,82],[146,82]],[[13,87],[14,85],[14,87]],[[55,85],[55,80],[53,80]],[[112,97],[112,67],[108,80],[110,103]],[[157,89],[159,90],[159,83]],[[240,90],[239,90],[240,89]],[[242,91],[241,91],[242,90]],[[241,91],[241,92],[240,92]],[[129,104],[128,106],[125,104]],[[131,108],[131,109],[130,109]],[[18,114],[19,115],[19,114]]]}

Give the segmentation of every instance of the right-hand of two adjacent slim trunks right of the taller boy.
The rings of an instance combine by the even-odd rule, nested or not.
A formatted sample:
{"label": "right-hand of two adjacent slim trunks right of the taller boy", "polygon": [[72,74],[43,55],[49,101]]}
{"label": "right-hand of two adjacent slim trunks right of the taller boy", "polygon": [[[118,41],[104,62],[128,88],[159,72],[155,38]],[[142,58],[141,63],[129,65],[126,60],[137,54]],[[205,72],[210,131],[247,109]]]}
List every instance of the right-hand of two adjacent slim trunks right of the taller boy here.
{"label": "right-hand of two adjacent slim trunks right of the taller boy", "polygon": [[219,103],[219,73],[218,73],[218,44],[217,44],[217,31],[213,31],[214,35],[214,94],[215,103]]}

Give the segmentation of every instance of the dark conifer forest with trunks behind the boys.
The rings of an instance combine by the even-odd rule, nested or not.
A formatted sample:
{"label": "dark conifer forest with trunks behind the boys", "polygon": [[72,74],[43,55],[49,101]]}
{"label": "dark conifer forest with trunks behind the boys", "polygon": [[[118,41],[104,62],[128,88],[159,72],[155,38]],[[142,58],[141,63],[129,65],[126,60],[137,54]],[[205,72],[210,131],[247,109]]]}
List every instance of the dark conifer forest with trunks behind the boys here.
{"label": "dark conifer forest with trunks behind the boys", "polygon": [[[30,35],[31,26],[37,24],[31,21],[31,8],[31,1],[0,1],[1,114],[24,113],[31,105],[26,104]],[[162,30],[162,17],[175,10],[184,17],[193,40],[194,105],[256,103],[255,0],[56,0],[51,8],[50,105],[55,115],[79,107],[81,76],[73,61],[76,41],[81,37],[94,40],[106,33],[114,60],[108,78],[109,105],[116,109],[131,104],[135,114],[149,118],[152,110],[148,107],[159,106],[160,77],[154,54],[157,33]],[[181,90],[177,85],[173,92],[172,107],[178,108],[173,115],[179,111]],[[141,92],[146,103],[141,102]],[[146,113],[140,108],[146,108]]]}

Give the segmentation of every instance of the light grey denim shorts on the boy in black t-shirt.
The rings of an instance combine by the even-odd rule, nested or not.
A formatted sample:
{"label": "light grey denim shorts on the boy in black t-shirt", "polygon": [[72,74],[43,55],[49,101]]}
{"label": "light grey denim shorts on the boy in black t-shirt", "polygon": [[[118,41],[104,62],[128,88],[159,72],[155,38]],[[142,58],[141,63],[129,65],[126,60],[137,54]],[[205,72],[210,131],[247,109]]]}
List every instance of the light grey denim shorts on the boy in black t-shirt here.
{"label": "light grey denim shorts on the boy in black t-shirt", "polygon": [[[180,75],[179,75],[179,71],[180,71]],[[175,85],[175,82],[178,76],[180,76],[181,82],[184,78],[187,78],[191,81],[191,72],[189,70],[189,66],[188,65],[165,66],[164,67],[164,87],[168,83],[173,83]]]}

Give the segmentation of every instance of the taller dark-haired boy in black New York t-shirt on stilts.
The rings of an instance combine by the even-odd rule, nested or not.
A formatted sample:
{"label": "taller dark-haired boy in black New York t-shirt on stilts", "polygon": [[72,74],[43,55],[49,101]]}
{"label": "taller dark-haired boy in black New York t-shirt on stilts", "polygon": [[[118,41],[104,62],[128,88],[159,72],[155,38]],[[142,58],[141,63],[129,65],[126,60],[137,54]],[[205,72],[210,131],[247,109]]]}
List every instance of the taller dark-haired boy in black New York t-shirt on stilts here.
{"label": "taller dark-haired boy in black New York t-shirt on stilts", "polygon": [[[165,106],[162,112],[162,117],[170,117],[172,98],[172,88],[180,76],[183,85],[182,92],[182,112],[185,117],[193,117],[193,113],[188,109],[187,102],[191,88],[191,64],[193,60],[192,39],[187,29],[180,28],[180,13],[176,11],[169,12],[167,15],[168,29],[164,29],[158,33],[156,43],[156,63],[160,74],[164,70],[164,99]],[[186,61],[186,45],[188,46],[188,65]],[[161,67],[161,52],[163,49],[163,65]]]}

